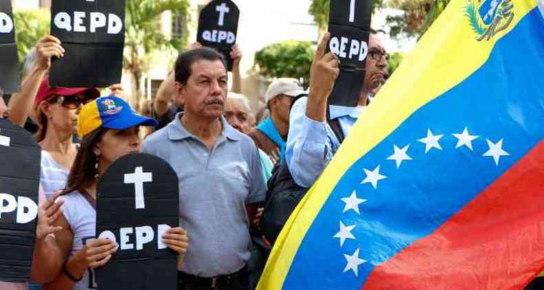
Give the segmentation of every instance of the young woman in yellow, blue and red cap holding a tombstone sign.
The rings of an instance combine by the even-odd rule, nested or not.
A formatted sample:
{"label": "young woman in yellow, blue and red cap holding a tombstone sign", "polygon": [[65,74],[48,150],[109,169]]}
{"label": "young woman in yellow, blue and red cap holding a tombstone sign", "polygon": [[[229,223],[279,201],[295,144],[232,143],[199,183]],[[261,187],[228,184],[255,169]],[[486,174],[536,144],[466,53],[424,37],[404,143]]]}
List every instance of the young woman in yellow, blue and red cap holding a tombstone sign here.
{"label": "young woman in yellow, blue and red cap holding a tombstone sign", "polygon": [[[140,152],[140,125],[156,126],[157,122],[136,114],[117,97],[99,98],[81,109],[78,123],[81,147],[63,191],[63,215],[55,224],[62,227],[56,240],[66,262],[63,273],[45,285],[45,289],[98,289],[93,269],[105,265],[118,245],[109,239],[94,238],[96,181],[117,158]],[[179,254],[178,264],[181,264],[189,246],[185,229],[169,229],[163,242]]]}

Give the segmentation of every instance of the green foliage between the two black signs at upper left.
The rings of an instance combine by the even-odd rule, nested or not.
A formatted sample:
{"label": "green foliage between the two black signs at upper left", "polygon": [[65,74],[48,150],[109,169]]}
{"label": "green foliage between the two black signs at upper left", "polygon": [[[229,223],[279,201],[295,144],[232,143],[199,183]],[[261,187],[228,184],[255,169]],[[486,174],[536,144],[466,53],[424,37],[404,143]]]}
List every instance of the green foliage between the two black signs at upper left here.
{"label": "green foliage between the two black signs at upper left", "polygon": [[15,37],[21,67],[25,55],[36,46],[36,43],[49,34],[51,13],[46,9],[15,10]]}

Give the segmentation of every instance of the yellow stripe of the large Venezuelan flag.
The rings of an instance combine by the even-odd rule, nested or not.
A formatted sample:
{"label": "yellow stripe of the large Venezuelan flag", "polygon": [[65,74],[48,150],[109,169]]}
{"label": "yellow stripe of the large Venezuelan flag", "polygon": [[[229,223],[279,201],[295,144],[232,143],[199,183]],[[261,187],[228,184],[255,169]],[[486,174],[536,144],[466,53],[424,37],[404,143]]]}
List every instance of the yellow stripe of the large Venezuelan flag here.
{"label": "yellow stripe of the large Venezuelan flag", "polygon": [[[363,122],[337,152],[324,174],[293,211],[266,263],[258,289],[282,289],[293,258],[308,228],[349,167],[364,156],[410,115],[476,72],[489,58],[496,41],[512,31],[536,8],[536,0],[514,0],[514,19],[489,41],[478,41],[465,15],[469,0],[452,0],[421,38],[414,52],[381,89]],[[301,211],[304,209],[304,211]]]}

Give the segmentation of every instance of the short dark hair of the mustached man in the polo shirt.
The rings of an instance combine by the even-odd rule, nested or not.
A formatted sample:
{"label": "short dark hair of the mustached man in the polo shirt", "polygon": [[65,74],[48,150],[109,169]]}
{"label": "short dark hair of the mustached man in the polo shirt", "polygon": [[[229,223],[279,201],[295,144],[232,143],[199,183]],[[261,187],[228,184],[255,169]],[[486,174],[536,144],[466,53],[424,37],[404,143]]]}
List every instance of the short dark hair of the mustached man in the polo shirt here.
{"label": "short dark hair of the mustached man in the polo shirt", "polygon": [[183,52],[178,56],[178,60],[176,60],[176,81],[182,85],[187,84],[192,73],[191,66],[202,59],[206,61],[221,61],[225,70],[227,69],[227,62],[220,52],[212,48],[196,48]]}

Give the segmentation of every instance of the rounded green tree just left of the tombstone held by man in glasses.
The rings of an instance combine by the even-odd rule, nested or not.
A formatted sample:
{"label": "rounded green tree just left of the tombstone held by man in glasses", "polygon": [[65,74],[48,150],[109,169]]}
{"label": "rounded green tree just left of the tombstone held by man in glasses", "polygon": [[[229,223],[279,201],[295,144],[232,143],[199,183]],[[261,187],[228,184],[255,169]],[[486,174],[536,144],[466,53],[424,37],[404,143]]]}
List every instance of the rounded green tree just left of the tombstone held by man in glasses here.
{"label": "rounded green tree just left of the tombstone held by man in glasses", "polygon": [[311,42],[284,41],[255,53],[255,64],[262,76],[298,79],[306,88],[310,85],[313,54]]}

